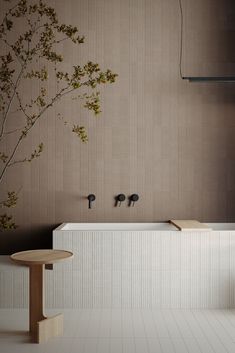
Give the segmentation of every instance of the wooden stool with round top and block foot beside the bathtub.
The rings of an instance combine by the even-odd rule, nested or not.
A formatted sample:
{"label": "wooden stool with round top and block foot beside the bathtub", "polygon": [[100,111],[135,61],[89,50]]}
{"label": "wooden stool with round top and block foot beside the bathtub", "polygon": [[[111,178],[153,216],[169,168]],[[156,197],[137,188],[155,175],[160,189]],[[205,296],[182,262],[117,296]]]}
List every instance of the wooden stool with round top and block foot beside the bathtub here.
{"label": "wooden stool with round top and block foot beside the bathtub", "polygon": [[65,250],[28,250],[11,255],[18,264],[29,266],[29,328],[34,342],[43,343],[50,337],[63,334],[63,315],[47,318],[44,315],[43,275],[46,264],[71,259]]}

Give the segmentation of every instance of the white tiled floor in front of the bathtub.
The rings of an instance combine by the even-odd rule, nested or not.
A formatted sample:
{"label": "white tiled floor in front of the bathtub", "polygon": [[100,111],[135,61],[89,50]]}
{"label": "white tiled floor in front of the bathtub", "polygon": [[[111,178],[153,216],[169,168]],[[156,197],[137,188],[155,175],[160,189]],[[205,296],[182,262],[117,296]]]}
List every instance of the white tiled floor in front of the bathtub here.
{"label": "white tiled floor in front of the bathtub", "polygon": [[38,345],[28,312],[0,310],[0,353],[234,353],[235,310],[48,310],[64,336]]}

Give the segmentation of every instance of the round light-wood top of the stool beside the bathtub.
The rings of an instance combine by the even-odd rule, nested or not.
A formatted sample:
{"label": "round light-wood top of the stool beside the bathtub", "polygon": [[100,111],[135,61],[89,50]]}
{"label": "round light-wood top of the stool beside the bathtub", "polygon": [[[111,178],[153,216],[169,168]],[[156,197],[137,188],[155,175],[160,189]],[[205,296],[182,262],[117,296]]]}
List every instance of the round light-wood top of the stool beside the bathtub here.
{"label": "round light-wood top of the stool beside the bathtub", "polygon": [[55,249],[27,250],[11,255],[13,261],[28,266],[53,264],[72,257],[71,251]]}

